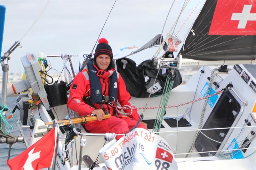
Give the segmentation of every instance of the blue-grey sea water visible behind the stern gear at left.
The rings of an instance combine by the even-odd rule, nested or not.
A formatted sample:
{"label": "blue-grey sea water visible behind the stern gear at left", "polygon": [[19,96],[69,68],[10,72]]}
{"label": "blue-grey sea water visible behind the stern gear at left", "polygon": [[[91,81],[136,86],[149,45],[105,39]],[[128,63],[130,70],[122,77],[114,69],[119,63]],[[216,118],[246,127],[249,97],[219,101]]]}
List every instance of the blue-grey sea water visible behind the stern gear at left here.
{"label": "blue-grey sea water visible behind the stern gear at left", "polygon": [[[16,96],[7,97],[6,105],[10,108],[10,110],[13,110],[13,108],[16,106],[16,103],[15,103],[16,98],[17,98]],[[20,110],[16,109],[14,114],[20,121]],[[8,117],[10,116],[10,112],[7,111],[6,115],[7,115],[6,116],[7,122],[9,122],[13,128],[13,129],[10,129],[11,134],[15,135],[15,136],[21,136],[20,130],[19,130],[18,126],[15,125],[15,122],[13,121],[13,119],[12,118],[8,119]],[[15,116],[14,116],[14,118],[15,118]],[[15,120],[17,120],[17,119],[15,118]],[[23,132],[24,132],[24,135],[26,136],[26,138],[28,140],[28,144],[29,144],[29,129],[23,129]],[[31,131],[31,133],[32,133],[32,131]],[[9,166],[7,165],[8,149],[9,149],[9,144],[0,144],[0,170],[10,169]],[[16,157],[21,152],[23,152],[25,149],[26,149],[26,147],[23,143],[13,144],[12,149],[11,149],[10,159]]]}

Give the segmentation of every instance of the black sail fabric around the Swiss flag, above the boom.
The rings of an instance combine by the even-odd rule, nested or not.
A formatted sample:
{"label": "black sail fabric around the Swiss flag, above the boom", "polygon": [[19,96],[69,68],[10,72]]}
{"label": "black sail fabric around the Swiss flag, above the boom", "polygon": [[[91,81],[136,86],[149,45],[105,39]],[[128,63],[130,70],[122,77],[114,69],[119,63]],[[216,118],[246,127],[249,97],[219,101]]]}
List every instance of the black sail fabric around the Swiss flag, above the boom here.
{"label": "black sail fabric around the Swiss flag, above the boom", "polygon": [[[180,50],[183,58],[195,60],[255,60],[256,30],[251,33],[252,35],[248,35],[248,33],[244,33],[244,35],[243,33],[240,35],[232,35],[232,33],[230,33],[231,35],[209,34],[214,12],[218,10],[216,5],[222,2],[220,0],[207,0],[205,2],[202,11],[191,28],[195,35],[193,36],[190,32],[185,41],[184,49],[182,47]],[[232,2],[226,0],[225,3]],[[255,1],[252,1],[252,3],[254,3],[252,7],[255,8]],[[225,10],[219,12],[225,12]],[[228,17],[223,15],[223,19],[220,19],[218,23],[219,26],[221,26],[221,22],[229,22],[230,16]],[[242,31],[243,29],[237,30]]]}

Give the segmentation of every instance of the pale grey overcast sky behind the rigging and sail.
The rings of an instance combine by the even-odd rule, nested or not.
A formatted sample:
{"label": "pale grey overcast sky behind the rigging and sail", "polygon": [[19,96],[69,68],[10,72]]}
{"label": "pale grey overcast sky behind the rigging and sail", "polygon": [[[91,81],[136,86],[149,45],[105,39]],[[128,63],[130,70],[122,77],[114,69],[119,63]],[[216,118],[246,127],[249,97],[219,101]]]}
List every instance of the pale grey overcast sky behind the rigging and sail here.
{"label": "pale grey overcast sky behind the rigging and sail", "polygon": [[[161,33],[172,2],[117,1],[100,37],[105,37],[113,50],[133,45],[142,46]],[[189,2],[174,33],[178,32],[198,2]],[[2,55],[15,41],[20,40],[46,3],[47,1],[40,0],[1,0],[0,4],[6,6]],[[80,51],[91,51],[113,3],[114,0],[51,1],[41,18],[21,41],[22,48],[17,48],[11,54],[11,60],[8,62],[10,72],[23,72],[20,57],[27,52],[78,55]],[[178,17],[183,3],[183,0],[175,1],[164,28],[164,37]],[[180,40],[183,41],[203,4],[204,1],[200,2],[180,31]],[[145,50],[132,56],[132,59],[137,62],[151,59],[156,50],[157,48]],[[50,61],[54,68],[61,71],[63,63],[60,58],[51,58]],[[72,61],[78,66],[77,58]]]}

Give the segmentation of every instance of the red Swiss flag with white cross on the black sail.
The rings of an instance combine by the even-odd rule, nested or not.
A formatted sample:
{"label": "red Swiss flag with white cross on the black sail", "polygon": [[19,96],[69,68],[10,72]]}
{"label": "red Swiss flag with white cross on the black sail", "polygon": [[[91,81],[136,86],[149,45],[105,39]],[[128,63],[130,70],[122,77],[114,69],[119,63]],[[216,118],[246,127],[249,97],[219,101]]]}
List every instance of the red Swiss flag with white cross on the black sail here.
{"label": "red Swiss flag with white cross on the black sail", "polygon": [[209,35],[256,35],[256,1],[218,0]]}

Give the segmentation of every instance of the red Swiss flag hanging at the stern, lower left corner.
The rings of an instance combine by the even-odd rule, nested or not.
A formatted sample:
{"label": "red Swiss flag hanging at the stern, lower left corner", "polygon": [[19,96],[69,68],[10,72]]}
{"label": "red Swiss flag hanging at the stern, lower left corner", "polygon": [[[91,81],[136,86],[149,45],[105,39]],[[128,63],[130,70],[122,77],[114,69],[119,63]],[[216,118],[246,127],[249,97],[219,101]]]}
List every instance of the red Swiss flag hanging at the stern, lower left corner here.
{"label": "red Swiss flag hanging at the stern, lower left corner", "polygon": [[48,168],[52,164],[55,143],[54,128],[20,155],[7,160],[7,164],[11,170]]}

